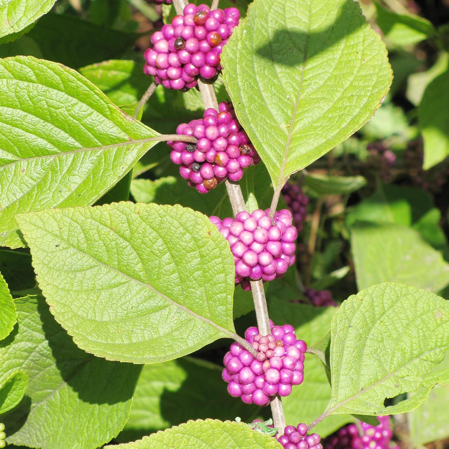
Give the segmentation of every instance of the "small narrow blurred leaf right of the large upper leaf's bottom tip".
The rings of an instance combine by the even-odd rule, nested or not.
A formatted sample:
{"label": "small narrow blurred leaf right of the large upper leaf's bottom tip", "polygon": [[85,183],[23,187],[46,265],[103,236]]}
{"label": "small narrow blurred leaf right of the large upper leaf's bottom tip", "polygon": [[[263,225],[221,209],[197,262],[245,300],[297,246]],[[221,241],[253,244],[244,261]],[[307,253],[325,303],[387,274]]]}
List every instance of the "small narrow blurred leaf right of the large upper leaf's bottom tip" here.
{"label": "small narrow blurred leaf right of the large upper leaf's bottom tip", "polygon": [[366,185],[363,176],[330,176],[307,173],[304,187],[311,189],[315,195],[350,194]]}

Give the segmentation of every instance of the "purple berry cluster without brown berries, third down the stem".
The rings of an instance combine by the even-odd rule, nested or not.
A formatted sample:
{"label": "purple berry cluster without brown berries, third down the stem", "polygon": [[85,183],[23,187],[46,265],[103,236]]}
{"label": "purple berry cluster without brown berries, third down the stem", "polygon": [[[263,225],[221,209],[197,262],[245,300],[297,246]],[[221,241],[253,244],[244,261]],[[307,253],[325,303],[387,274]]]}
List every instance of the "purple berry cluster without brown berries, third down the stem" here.
{"label": "purple berry cluster without brown berries, third down the stem", "polygon": [[274,214],[273,223],[269,209],[256,209],[249,214],[239,212],[233,218],[220,220],[210,217],[223,237],[229,242],[235,262],[235,284],[251,290],[250,281],[272,281],[282,277],[295,263],[295,240],[298,235],[291,224],[292,215],[287,209]]}

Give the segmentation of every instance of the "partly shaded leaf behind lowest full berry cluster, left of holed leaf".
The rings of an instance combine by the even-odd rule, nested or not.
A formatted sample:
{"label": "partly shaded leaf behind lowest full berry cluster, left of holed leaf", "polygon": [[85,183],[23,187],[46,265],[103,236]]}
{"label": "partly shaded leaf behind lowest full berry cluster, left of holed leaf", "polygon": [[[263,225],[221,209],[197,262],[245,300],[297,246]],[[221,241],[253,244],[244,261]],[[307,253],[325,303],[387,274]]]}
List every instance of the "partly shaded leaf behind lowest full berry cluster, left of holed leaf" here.
{"label": "partly shaded leaf behind lowest full berry cluster, left of holed leaf", "polygon": [[[330,321],[337,309],[304,304],[291,304],[279,299],[269,300],[270,318],[275,324],[289,323],[295,326],[297,338],[308,347],[319,342],[330,330]],[[289,396],[282,398],[287,424],[311,423],[326,410],[330,401],[330,383],[326,370],[315,354],[306,354],[304,382],[293,387]],[[343,424],[353,421],[350,415],[329,416],[313,428],[324,438]]]}

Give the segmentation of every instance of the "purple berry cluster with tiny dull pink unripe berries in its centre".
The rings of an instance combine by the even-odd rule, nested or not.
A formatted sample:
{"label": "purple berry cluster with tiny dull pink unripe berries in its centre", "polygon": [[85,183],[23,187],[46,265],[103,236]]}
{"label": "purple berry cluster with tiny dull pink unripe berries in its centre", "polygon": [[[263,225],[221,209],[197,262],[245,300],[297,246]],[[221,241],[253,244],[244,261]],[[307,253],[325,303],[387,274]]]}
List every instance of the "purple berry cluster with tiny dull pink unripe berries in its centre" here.
{"label": "purple berry cluster with tiny dull pink unripe berries in its centre", "polygon": [[296,339],[290,324],[274,326],[270,320],[270,329],[271,334],[266,336],[260,335],[255,326],[246,330],[245,338],[257,351],[256,357],[237,342],[225,354],[222,377],[228,383],[228,392],[246,404],[264,407],[271,396],[288,396],[292,386],[304,380],[307,344]]}

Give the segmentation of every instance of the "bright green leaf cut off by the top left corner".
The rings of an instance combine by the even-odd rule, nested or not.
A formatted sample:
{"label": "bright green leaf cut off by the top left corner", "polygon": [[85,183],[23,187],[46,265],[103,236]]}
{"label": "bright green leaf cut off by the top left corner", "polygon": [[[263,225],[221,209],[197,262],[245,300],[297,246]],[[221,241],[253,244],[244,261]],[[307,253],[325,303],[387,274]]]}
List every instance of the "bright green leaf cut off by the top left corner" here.
{"label": "bright green leaf cut off by the top left corner", "polygon": [[0,37],[17,33],[48,13],[56,0],[6,0],[0,4]]}

